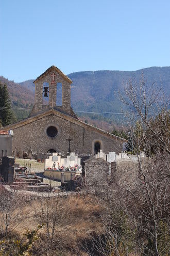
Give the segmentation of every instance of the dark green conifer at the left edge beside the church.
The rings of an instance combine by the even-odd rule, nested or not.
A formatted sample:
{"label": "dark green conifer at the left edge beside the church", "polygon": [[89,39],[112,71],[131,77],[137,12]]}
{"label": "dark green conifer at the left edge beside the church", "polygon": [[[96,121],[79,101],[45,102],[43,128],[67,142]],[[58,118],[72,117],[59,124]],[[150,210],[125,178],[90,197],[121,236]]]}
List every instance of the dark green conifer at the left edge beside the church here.
{"label": "dark green conifer at the left edge beside the church", "polygon": [[6,126],[8,124],[11,124],[14,119],[14,114],[13,111],[10,109],[11,107],[11,102],[9,98],[9,93],[8,93],[8,88],[7,85],[4,84],[3,88],[1,90],[1,120],[2,120],[2,125]]}

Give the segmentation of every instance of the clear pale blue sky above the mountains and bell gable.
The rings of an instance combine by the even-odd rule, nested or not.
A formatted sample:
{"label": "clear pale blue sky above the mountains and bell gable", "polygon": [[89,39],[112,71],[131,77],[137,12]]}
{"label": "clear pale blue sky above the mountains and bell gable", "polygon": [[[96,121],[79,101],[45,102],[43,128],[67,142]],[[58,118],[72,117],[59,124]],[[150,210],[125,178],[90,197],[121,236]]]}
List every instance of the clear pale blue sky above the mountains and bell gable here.
{"label": "clear pale blue sky above the mountains and bell gable", "polygon": [[170,66],[169,0],[0,0],[0,75]]}

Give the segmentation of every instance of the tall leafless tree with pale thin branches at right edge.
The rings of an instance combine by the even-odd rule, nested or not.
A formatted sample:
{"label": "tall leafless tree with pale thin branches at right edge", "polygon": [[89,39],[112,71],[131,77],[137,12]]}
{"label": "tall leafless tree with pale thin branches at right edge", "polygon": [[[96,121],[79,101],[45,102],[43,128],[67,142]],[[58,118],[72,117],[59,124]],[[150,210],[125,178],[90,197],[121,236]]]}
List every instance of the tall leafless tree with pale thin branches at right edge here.
{"label": "tall leafless tree with pale thin branches at right edge", "polygon": [[[124,84],[125,95],[120,100],[130,109],[128,125],[133,135],[133,148],[138,156],[138,179],[136,188],[128,189],[140,204],[135,216],[148,239],[150,253],[160,255],[158,232],[160,221],[168,225],[169,205],[169,118],[168,101],[163,101],[161,87],[148,84],[142,71],[139,81],[134,77]],[[148,158],[143,161],[141,151]]]}

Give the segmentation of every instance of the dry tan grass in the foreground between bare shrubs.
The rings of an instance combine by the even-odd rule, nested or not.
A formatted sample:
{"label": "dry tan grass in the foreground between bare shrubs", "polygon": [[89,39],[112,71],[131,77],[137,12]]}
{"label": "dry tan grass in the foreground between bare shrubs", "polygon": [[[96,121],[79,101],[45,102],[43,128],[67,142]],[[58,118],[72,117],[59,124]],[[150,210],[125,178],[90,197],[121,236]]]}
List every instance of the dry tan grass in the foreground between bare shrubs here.
{"label": "dry tan grass in the foreground between bare shrubs", "polygon": [[[45,198],[43,200],[46,200]],[[62,199],[63,200],[63,199]],[[70,196],[63,201],[64,218],[60,221],[56,228],[56,246],[54,250],[58,250],[64,254],[60,255],[86,255],[83,252],[82,241],[87,239],[91,233],[95,232],[100,224],[101,206],[97,205],[94,199],[90,196]],[[15,232],[19,237],[26,230],[33,230],[40,223],[40,218],[37,216],[35,209],[41,209],[39,198],[27,201],[21,205],[23,212],[27,213],[24,221],[16,228]],[[47,246],[46,227],[39,231],[40,239],[32,247],[32,255],[46,255],[43,247]],[[16,236],[16,235],[15,235]],[[46,242],[45,242],[46,241]],[[58,255],[58,254],[49,255]]]}

